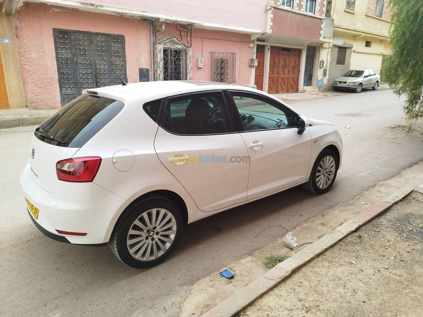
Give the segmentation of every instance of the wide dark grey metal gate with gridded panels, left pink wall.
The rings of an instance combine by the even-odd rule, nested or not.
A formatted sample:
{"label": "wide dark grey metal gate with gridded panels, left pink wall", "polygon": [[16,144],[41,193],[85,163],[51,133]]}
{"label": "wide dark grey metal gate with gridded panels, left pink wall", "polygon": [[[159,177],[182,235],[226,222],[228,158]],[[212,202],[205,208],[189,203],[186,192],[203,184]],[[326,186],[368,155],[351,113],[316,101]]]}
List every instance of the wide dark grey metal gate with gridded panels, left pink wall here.
{"label": "wide dark grey metal gate with gridded panels, left pink wall", "polygon": [[126,81],[123,35],[53,29],[53,36],[62,106],[84,89],[121,83],[100,54]]}

